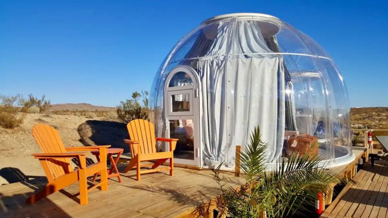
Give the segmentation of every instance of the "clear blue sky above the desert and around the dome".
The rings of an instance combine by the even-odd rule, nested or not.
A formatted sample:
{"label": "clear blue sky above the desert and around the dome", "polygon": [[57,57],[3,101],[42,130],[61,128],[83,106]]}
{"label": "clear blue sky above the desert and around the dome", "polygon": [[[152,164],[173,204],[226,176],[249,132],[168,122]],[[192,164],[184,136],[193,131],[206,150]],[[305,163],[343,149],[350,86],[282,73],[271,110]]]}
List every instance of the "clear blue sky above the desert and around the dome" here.
{"label": "clear blue sky above the desert and around the dome", "polygon": [[203,20],[257,12],[334,58],[351,106],[388,106],[387,1],[0,1],[0,93],[115,106],[149,90],[170,49]]}

